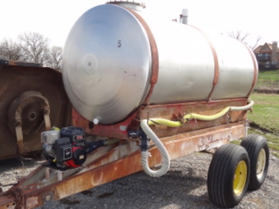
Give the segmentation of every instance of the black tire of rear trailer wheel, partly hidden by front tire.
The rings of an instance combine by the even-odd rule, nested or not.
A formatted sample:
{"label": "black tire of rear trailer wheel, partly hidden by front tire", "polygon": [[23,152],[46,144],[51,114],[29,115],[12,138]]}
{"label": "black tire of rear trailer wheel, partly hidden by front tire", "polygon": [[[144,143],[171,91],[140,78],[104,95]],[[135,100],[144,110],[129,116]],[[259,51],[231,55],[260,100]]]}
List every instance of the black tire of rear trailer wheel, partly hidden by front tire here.
{"label": "black tire of rear trailer wheel, partly hidden by front tire", "polygon": [[[246,149],[250,159],[251,172],[250,172],[250,181],[249,181],[248,189],[257,190],[262,186],[267,175],[267,170],[269,165],[269,149],[268,149],[267,141],[261,135],[251,134],[243,138],[240,145]],[[261,178],[258,178],[257,161],[261,149],[264,149],[265,151],[266,162],[265,162],[263,175],[261,176]]]}

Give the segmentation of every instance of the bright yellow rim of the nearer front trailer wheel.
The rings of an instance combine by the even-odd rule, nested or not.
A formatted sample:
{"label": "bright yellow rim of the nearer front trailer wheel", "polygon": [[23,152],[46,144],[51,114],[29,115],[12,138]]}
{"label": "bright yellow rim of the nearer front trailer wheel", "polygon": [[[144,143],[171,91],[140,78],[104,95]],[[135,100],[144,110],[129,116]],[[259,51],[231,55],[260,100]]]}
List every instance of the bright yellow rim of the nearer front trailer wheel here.
{"label": "bright yellow rim of the nearer front trailer wheel", "polygon": [[241,160],[236,167],[233,180],[233,192],[236,196],[240,195],[245,187],[247,180],[247,164]]}

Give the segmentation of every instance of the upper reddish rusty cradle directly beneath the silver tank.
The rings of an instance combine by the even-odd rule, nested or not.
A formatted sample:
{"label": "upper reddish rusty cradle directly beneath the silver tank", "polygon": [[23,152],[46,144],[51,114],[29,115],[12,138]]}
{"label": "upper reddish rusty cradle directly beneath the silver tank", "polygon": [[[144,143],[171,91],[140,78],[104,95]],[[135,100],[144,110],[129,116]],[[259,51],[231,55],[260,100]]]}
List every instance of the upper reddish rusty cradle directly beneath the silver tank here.
{"label": "upper reddish rusty cradle directly beneath the silver tank", "polygon": [[[140,119],[165,118],[170,120],[179,120],[182,115],[188,113],[212,115],[220,112],[225,107],[239,107],[245,105],[247,105],[247,98],[214,100],[210,102],[195,101],[175,104],[142,106],[124,121],[113,125],[93,125],[92,121],[88,121],[87,119],[83,118],[77,113],[75,109],[73,109],[72,124],[74,126],[83,128],[86,133],[129,140],[127,131],[133,129],[137,130],[138,126],[140,125]],[[216,125],[236,122],[239,120],[245,120],[246,118],[246,111],[230,112],[226,116],[215,121],[199,121],[199,123],[196,123],[196,121],[193,120],[188,122],[187,126],[181,126],[179,128],[172,129],[162,129],[154,127],[153,131],[155,131],[155,133],[159,137],[166,137],[186,131],[212,127]]]}

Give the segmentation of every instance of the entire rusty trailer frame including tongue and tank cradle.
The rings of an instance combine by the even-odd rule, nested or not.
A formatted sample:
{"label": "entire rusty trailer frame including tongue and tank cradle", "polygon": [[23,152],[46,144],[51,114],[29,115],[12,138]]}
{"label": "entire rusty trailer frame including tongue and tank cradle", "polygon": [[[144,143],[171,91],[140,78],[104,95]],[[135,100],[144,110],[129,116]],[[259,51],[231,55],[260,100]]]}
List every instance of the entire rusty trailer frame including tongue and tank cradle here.
{"label": "entire rusty trailer frame including tongue and tank cradle", "polygon": [[[82,167],[58,171],[43,165],[23,178],[8,192],[0,193],[0,209],[33,208],[48,201],[105,184],[141,171],[139,138],[128,138],[129,130],[140,129],[140,120],[165,118],[181,120],[188,113],[212,115],[228,106],[244,106],[247,98],[218,101],[196,101],[177,104],[142,106],[126,120],[114,125],[96,125],[80,116],[74,109],[72,125],[82,127],[89,134],[122,139],[118,145],[109,145],[88,155]],[[91,124],[92,125],[92,124]],[[214,121],[188,121],[181,127],[151,126],[166,147],[170,159],[205,150],[213,150],[229,141],[247,135],[247,111],[229,112]],[[161,163],[159,150],[151,144],[149,165]]]}

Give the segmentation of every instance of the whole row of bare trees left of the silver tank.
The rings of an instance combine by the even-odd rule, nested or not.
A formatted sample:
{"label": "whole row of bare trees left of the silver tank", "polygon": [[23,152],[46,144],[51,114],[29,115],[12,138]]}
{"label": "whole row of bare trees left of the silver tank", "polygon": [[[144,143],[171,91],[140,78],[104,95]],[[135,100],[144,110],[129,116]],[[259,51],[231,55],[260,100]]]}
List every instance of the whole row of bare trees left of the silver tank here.
{"label": "whole row of bare trees left of the silver tank", "polygon": [[38,32],[25,32],[16,41],[5,38],[0,42],[0,59],[43,63],[60,71],[62,47],[50,47],[50,40]]}

